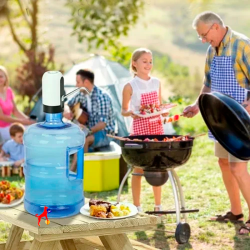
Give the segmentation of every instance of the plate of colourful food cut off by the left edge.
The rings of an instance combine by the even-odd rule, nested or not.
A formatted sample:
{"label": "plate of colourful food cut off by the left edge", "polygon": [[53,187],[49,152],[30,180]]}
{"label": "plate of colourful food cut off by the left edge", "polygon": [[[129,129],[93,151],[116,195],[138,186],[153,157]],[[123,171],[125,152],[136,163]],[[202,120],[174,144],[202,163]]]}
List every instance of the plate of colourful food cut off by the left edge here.
{"label": "plate of colourful food cut off by the left edge", "polygon": [[0,208],[19,205],[24,199],[24,189],[15,187],[9,181],[0,181]]}

